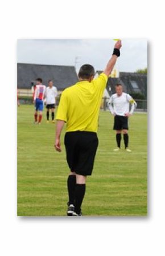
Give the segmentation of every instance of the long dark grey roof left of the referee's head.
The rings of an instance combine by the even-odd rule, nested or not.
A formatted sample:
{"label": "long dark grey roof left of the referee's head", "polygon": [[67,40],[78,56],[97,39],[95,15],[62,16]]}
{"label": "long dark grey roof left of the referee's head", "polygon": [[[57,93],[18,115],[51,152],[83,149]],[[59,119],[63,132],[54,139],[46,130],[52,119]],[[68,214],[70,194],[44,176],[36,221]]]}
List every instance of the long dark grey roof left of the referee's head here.
{"label": "long dark grey roof left of the referee's head", "polygon": [[35,82],[36,78],[42,78],[45,85],[47,85],[48,80],[53,80],[54,86],[58,90],[64,90],[78,80],[73,66],[17,64],[18,88],[31,88],[31,82]]}

